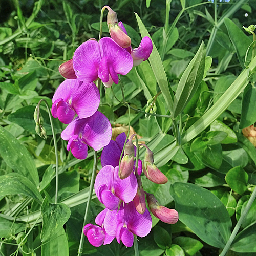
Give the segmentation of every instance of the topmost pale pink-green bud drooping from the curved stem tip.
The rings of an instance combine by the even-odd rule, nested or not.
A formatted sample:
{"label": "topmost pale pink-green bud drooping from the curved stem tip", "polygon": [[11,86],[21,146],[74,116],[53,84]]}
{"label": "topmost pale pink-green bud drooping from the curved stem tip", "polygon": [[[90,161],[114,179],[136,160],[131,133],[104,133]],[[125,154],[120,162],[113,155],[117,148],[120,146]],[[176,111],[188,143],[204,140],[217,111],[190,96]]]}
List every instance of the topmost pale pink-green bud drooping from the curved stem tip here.
{"label": "topmost pale pink-green bud drooping from the curved stem tip", "polygon": [[116,13],[109,6],[105,6],[105,8],[109,11],[106,23],[108,24],[111,38],[122,48],[128,48],[131,46],[131,38],[118,26]]}

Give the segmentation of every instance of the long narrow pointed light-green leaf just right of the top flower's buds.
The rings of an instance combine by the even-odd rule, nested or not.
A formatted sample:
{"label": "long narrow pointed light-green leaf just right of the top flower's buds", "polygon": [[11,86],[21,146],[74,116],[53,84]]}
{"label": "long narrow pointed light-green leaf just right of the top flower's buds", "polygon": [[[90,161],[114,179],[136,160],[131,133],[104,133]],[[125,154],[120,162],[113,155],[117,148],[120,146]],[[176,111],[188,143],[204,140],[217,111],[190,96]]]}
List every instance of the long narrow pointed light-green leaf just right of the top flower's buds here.
{"label": "long narrow pointed light-green leaf just right of the top flower's buds", "polygon": [[[143,38],[144,36],[148,36],[151,38],[150,34],[148,34],[144,24],[142,23],[142,20],[138,16],[138,14],[135,13],[135,15],[136,15],[136,19],[137,19],[137,22],[139,25],[141,37]],[[172,96],[170,95],[168,81],[167,81],[167,77],[166,77],[166,74],[164,71],[163,63],[162,63],[161,57],[157,51],[157,48],[155,47],[153,42],[152,42],[152,44],[153,44],[153,51],[152,51],[150,57],[148,58],[148,60],[150,61],[150,65],[155,74],[158,86],[164,96],[166,104],[168,105],[168,109],[169,109],[170,113],[172,114],[173,100],[172,100]]]}

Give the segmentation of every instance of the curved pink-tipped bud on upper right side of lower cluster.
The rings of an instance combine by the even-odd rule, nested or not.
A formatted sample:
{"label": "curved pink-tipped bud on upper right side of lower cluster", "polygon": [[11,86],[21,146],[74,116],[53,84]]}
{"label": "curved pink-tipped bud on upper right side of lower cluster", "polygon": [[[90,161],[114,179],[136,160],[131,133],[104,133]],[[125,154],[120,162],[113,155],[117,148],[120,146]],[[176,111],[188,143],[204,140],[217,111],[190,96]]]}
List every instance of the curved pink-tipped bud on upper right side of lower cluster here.
{"label": "curved pink-tipped bud on upper right side of lower cluster", "polygon": [[154,164],[153,152],[145,144],[143,144],[143,146],[146,147],[144,163],[142,166],[145,176],[156,184],[165,184],[168,181],[168,178]]}

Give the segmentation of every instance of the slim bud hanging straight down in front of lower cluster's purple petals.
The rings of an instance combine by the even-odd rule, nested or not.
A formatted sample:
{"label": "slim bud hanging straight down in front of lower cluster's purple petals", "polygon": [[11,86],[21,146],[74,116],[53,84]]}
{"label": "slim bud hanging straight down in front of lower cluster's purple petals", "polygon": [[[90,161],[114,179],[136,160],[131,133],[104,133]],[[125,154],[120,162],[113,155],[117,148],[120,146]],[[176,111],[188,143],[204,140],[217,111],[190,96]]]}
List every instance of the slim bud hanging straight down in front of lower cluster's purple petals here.
{"label": "slim bud hanging straight down in front of lower cluster's purple petals", "polygon": [[120,163],[119,168],[119,177],[121,180],[130,176],[133,171],[134,166],[134,145],[132,142],[132,138],[134,135],[131,136],[130,140],[126,143],[124,147],[124,156]]}

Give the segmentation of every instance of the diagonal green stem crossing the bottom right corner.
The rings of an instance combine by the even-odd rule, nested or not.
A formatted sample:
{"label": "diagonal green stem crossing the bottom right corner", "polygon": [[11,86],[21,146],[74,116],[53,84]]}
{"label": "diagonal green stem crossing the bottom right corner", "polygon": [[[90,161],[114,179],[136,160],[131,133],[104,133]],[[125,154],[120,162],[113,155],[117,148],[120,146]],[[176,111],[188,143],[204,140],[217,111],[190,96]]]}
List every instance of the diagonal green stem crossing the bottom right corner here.
{"label": "diagonal green stem crossing the bottom right corner", "polygon": [[243,221],[244,221],[244,219],[245,219],[245,217],[246,217],[246,215],[247,215],[247,213],[248,213],[248,211],[249,211],[253,201],[255,200],[255,198],[256,198],[256,189],[254,189],[254,191],[252,192],[251,197],[250,197],[247,205],[245,206],[244,211],[243,211],[240,219],[238,220],[237,225],[234,227],[233,232],[231,233],[230,238],[228,239],[228,241],[227,241],[223,251],[221,252],[221,254],[219,256],[226,255],[230,245],[232,244],[234,238],[236,237],[236,235],[237,235],[237,233],[238,233],[238,231],[239,231],[239,229],[240,229],[240,227],[241,227],[241,225],[242,225],[242,223],[243,223]]}

